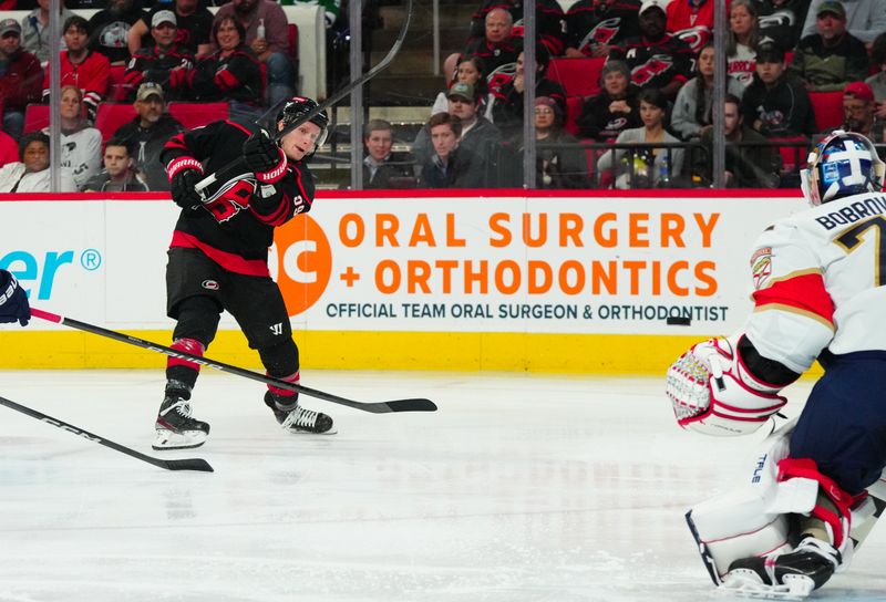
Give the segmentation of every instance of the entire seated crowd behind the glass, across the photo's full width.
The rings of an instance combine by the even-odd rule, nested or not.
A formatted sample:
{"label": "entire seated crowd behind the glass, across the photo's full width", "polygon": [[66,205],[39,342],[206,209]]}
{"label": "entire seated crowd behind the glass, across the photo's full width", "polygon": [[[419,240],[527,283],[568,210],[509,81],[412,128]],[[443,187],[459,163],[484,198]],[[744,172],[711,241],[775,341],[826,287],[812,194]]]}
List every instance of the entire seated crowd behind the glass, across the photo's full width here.
{"label": "entire seated crowd behind the glass, across the photo's full width", "polygon": [[[203,0],[103,0],[87,20],[76,10],[100,8],[89,1],[69,0],[61,12],[60,167],[72,189],[167,189],[158,149],[184,127],[168,102],[224,102],[230,116],[256,118],[295,93],[287,19],[275,0],[229,0],[215,15]],[[49,0],[38,3],[21,23],[0,21],[0,166],[20,165],[0,177],[22,181],[40,166],[24,160],[39,147],[25,111],[49,100]],[[709,186],[718,68],[727,74],[719,111],[730,186],[795,184],[808,145],[836,127],[886,144],[886,0],[731,0],[725,56],[712,44],[713,0],[536,4],[539,188]],[[402,141],[410,153],[392,152],[392,124],[367,124],[365,187],[522,185],[522,11],[519,0],[483,1],[463,50],[444,61],[444,90],[424,127]],[[587,71],[567,77],[570,61]],[[112,82],[115,65],[123,75]],[[593,92],[576,93],[576,81]],[[842,103],[836,118],[823,98]],[[134,116],[99,132],[109,101],[131,103]]]}

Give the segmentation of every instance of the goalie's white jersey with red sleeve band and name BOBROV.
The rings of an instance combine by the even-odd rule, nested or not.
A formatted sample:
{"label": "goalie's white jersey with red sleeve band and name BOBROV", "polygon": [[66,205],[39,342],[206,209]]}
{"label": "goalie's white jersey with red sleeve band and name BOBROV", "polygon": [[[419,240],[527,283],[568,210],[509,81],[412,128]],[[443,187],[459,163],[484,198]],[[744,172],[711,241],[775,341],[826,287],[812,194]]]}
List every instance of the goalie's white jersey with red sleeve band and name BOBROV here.
{"label": "goalie's white jersey with red sleeve band and name BOBROV", "polygon": [[832,353],[886,350],[886,195],[854,195],[777,221],[751,258],[745,334],[794,372]]}

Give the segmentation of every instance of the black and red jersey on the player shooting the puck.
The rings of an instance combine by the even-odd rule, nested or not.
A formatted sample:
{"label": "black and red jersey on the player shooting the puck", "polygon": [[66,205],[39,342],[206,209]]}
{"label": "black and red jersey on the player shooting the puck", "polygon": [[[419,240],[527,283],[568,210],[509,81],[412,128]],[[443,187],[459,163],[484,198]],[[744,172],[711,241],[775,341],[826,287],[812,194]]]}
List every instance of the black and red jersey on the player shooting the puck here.
{"label": "black and red jersey on the player shooting the puck", "polygon": [[[243,159],[243,143],[255,125],[231,121],[213,122],[205,127],[173,136],[161,153],[161,163],[174,173],[177,164],[203,164],[205,174]],[[202,250],[220,266],[238,273],[257,274],[264,262],[274,228],[296,214],[308,212],[313,203],[315,184],[303,162],[289,162],[282,177],[272,184],[260,183],[241,164],[220,176],[209,193],[207,210],[183,210],[175,227],[173,247]],[[222,180],[222,178],[226,178]]]}

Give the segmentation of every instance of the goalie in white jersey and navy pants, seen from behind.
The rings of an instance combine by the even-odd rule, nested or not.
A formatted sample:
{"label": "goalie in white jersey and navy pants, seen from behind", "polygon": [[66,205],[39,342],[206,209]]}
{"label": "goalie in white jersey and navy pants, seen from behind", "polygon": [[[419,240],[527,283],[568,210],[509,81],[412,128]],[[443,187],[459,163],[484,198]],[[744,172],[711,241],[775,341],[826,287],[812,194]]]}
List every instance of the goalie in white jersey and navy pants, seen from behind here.
{"label": "goalie in white jersey and navy pants, seen from behind", "polygon": [[886,166],[837,131],[802,173],[811,209],[777,221],[751,256],[744,329],[687,351],[668,371],[678,423],[709,435],[756,430],[779,392],[818,359],[825,373],[797,421],[765,442],[748,484],[687,513],[715,584],[805,596],[848,564],[886,466]]}

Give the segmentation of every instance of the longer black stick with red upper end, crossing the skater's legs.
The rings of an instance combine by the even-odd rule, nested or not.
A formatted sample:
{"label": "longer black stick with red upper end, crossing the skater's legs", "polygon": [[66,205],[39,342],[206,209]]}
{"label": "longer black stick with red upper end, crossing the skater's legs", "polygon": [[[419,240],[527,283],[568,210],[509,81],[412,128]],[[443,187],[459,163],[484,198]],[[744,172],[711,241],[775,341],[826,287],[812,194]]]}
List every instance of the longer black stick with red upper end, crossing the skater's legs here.
{"label": "longer black stick with red upper end, crossing the skater's legs", "polygon": [[94,324],[87,324],[86,322],[72,320],[71,318],[63,318],[61,315],[39,310],[35,308],[31,308],[31,315],[33,315],[34,318],[39,318],[40,320],[45,320],[48,322],[55,322],[56,324],[62,324],[63,326],[82,330],[84,332],[90,332],[92,334],[97,334],[99,336],[105,336],[107,339],[113,339],[115,341],[120,341],[121,343],[128,343],[131,345],[135,345],[150,351],[164,353],[166,355],[169,355],[171,357],[187,360],[188,362],[194,362],[195,364],[199,364],[202,366],[214,367],[215,370],[220,370],[222,372],[228,372],[230,374],[236,374],[237,376],[244,376],[246,378],[274,385],[279,388],[297,391],[298,393],[301,393],[303,395],[317,397],[318,399],[324,399],[333,404],[347,405],[348,407],[362,409],[363,412],[371,412],[372,414],[387,414],[389,412],[436,411],[436,404],[431,399],[425,399],[423,397],[414,397],[409,399],[393,399],[390,402],[374,402],[374,403],[354,402],[346,397],[339,397],[338,395],[332,395],[331,393],[323,393],[322,391],[317,391],[316,388],[309,388],[307,386],[302,386],[299,384],[281,381],[280,378],[275,378],[274,376],[267,376],[265,374],[259,374],[258,372],[253,372],[230,364],[216,362],[207,357],[200,357],[199,355],[192,355],[190,353],[186,353],[184,351],[167,347],[157,343],[152,343],[150,341],[145,341],[136,336],[123,334],[122,332],[103,329]]}

